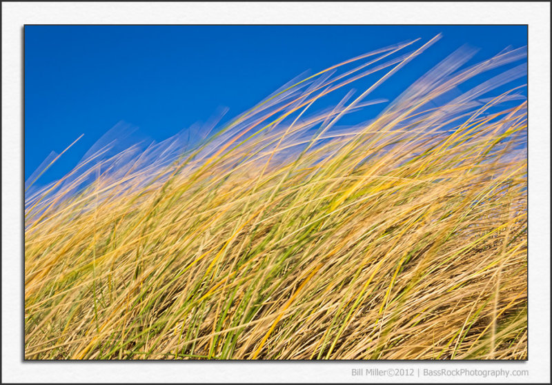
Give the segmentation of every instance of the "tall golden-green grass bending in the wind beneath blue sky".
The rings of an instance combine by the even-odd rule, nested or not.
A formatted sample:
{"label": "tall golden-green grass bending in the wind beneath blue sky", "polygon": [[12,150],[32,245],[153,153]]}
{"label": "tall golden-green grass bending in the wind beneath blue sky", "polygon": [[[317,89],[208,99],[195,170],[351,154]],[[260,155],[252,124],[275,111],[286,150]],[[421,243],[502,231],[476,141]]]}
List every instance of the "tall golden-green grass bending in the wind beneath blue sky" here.
{"label": "tall golden-green grass bending in the wind beneath blue sky", "polygon": [[191,149],[102,148],[29,193],[26,359],[525,359],[526,101],[502,91],[524,49],[459,50],[367,99],[433,41],[290,83]]}

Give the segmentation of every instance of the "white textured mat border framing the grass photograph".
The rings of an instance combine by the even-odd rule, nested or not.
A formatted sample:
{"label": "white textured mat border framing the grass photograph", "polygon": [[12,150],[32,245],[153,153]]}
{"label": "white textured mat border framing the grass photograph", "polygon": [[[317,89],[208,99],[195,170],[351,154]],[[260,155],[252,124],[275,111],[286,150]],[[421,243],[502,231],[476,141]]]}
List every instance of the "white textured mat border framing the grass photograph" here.
{"label": "white textured mat border framing the grass photograph", "polygon": [[[549,3],[2,3],[2,382],[549,382]],[[29,23],[529,24],[529,361],[22,362],[21,77]],[[526,369],[527,377],[353,377],[353,368]]]}

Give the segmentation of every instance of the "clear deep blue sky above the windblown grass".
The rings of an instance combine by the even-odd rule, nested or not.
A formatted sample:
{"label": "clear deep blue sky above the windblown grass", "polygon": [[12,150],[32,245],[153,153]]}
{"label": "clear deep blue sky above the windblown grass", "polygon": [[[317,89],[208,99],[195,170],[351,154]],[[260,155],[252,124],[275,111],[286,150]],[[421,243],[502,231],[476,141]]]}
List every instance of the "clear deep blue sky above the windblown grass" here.
{"label": "clear deep blue sky above the windblown grass", "polygon": [[221,106],[235,117],[306,70],[440,32],[377,96],[392,97],[464,44],[480,49],[475,61],[527,44],[525,26],[26,26],[25,178],[81,134],[41,184],[121,120],[161,141]]}

